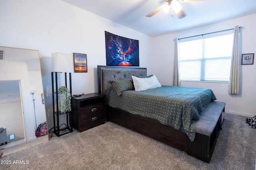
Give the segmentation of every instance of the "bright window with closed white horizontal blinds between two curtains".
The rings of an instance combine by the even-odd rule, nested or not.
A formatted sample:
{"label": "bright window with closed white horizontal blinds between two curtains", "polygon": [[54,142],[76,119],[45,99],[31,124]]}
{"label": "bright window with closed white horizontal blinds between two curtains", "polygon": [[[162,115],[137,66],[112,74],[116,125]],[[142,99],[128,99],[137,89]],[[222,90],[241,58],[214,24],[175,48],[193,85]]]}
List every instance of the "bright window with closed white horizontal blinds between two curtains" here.
{"label": "bright window with closed white horizontal blinds between two curtains", "polygon": [[229,82],[233,30],[179,40],[180,80]]}

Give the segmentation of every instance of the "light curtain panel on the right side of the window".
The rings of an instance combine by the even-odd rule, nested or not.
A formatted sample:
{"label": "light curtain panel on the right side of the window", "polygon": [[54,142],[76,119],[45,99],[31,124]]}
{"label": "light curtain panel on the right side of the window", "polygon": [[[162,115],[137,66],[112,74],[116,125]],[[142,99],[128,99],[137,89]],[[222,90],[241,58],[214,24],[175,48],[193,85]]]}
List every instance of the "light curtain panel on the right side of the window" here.
{"label": "light curtain panel on the right side of the window", "polygon": [[239,26],[234,28],[234,42],[231,57],[230,80],[229,80],[229,94],[239,94]]}

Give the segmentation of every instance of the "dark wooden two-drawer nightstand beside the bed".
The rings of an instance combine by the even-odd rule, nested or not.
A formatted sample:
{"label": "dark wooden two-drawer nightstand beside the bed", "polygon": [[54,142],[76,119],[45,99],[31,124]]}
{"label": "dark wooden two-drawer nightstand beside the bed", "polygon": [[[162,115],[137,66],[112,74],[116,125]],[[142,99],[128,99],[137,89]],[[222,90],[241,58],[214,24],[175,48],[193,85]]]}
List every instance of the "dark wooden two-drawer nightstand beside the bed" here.
{"label": "dark wooden two-drawer nightstand beside the bed", "polygon": [[92,93],[72,97],[72,125],[79,132],[106,121],[106,95]]}

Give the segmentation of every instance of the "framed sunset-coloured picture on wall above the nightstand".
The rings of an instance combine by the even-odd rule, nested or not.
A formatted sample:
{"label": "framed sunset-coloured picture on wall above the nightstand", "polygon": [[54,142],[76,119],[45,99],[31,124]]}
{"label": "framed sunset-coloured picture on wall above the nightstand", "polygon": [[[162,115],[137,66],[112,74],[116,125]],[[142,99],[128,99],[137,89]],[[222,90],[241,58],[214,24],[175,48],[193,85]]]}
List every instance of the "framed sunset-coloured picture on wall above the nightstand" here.
{"label": "framed sunset-coloured picture on wall above the nightstand", "polygon": [[81,53],[74,54],[74,72],[87,72],[87,55]]}

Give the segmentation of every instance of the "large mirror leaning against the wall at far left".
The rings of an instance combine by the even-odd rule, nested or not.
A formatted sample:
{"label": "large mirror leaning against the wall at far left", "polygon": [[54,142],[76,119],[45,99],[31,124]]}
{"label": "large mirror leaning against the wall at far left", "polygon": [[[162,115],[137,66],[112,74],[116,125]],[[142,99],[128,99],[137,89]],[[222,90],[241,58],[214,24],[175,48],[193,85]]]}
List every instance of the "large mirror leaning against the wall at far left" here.
{"label": "large mirror leaning against the wall at far left", "polygon": [[38,125],[44,122],[39,51],[0,47],[0,127],[7,131],[7,144],[1,149],[39,138],[49,140],[48,135],[35,135]]}

